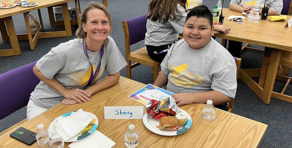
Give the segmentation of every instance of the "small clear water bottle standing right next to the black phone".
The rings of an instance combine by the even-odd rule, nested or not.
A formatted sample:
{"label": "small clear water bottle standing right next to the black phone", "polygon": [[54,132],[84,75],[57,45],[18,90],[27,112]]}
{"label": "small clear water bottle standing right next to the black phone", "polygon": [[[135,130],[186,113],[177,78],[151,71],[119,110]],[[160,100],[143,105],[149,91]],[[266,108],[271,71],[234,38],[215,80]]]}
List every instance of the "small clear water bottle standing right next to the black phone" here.
{"label": "small clear water bottle standing right next to the black phone", "polygon": [[39,124],[37,128],[36,142],[39,144],[39,147],[48,147],[50,141],[50,134],[48,130],[44,128],[44,124]]}

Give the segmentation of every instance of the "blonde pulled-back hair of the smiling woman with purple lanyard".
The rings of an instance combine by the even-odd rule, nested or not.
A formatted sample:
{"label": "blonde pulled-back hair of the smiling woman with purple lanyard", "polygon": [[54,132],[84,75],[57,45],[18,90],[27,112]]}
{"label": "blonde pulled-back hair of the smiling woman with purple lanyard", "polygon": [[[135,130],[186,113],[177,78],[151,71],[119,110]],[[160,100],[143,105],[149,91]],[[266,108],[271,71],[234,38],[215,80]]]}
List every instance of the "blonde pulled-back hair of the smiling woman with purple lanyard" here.
{"label": "blonde pulled-back hair of the smiling woman with purple lanyard", "polygon": [[105,12],[105,14],[107,15],[107,18],[109,19],[109,26],[110,26],[109,34],[112,32],[112,16],[110,15],[109,10],[104,5],[98,2],[92,1],[86,5],[80,18],[80,26],[78,27],[76,31],[76,36],[80,39],[86,38],[86,32],[84,32],[82,24],[87,22],[87,13],[91,9],[100,9]]}

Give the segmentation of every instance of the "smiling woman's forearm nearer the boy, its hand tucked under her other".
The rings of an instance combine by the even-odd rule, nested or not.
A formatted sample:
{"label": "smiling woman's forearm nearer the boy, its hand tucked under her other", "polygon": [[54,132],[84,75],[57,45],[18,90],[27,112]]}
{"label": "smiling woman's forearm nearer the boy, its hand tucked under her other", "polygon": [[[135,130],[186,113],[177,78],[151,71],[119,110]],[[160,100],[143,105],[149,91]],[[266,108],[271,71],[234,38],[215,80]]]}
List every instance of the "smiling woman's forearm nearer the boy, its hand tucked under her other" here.
{"label": "smiling woman's forearm nearer the boy, its hand tucked under her other", "polygon": [[[113,86],[114,84],[119,82],[119,79],[120,79],[120,72],[117,72],[115,74],[112,74],[112,75],[105,77],[104,79],[102,79],[98,83],[88,87],[84,91],[86,91],[89,95],[92,95],[94,93],[100,92],[101,90],[109,88],[110,86]],[[73,105],[76,103],[77,103],[77,101],[72,100],[72,99],[62,100],[62,104],[65,104],[65,105]]]}

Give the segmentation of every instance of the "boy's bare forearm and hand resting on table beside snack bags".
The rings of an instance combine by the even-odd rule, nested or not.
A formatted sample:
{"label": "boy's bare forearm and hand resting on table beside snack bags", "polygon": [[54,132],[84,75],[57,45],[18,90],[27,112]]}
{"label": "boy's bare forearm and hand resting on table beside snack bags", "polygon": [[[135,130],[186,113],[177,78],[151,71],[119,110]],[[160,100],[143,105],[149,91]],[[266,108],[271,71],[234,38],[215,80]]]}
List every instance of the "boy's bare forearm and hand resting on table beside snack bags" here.
{"label": "boy's bare forearm and hand resting on table beside snack bags", "polygon": [[207,100],[212,100],[213,105],[220,105],[232,100],[231,97],[224,95],[223,93],[212,90],[207,92],[200,92],[200,93],[176,93],[172,96],[178,106],[184,104],[192,104],[192,103],[207,103]]}

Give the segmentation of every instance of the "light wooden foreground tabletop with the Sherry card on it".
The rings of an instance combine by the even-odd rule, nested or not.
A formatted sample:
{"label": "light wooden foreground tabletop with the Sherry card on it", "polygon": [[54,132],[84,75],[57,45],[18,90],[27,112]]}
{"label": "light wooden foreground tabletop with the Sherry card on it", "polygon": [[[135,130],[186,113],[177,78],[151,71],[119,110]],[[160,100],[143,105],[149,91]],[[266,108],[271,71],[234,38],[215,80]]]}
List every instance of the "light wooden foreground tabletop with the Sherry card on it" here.
{"label": "light wooden foreground tabletop with the Sherry card on it", "polygon": [[[192,126],[186,133],[177,136],[152,133],[144,126],[142,119],[104,119],[104,106],[144,106],[127,97],[143,86],[145,84],[120,77],[119,83],[92,95],[89,102],[71,106],[58,104],[32,120],[22,123],[0,137],[0,147],[38,147],[37,143],[27,146],[9,137],[9,134],[19,127],[36,131],[40,123],[48,128],[55,117],[80,108],[98,117],[97,130],[116,142],[115,147],[124,147],[124,134],[129,124],[134,124],[138,131],[138,147],[258,147],[266,133],[266,124],[220,109],[216,109],[216,118],[213,122],[204,121],[203,104],[181,106],[192,117]],[[65,147],[68,147],[68,144],[70,142],[66,142]]]}

